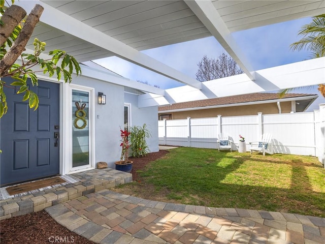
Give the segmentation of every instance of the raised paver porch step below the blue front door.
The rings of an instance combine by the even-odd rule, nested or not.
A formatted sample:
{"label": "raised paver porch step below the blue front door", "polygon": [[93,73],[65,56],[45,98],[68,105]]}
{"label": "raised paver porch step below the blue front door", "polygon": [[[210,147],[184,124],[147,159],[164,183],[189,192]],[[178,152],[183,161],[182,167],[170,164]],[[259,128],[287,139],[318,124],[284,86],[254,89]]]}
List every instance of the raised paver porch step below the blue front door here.
{"label": "raised paver porch step below the blue front door", "polygon": [[132,174],[104,168],[71,174],[76,182],[0,201],[0,220],[37,212],[89,193],[132,182]]}

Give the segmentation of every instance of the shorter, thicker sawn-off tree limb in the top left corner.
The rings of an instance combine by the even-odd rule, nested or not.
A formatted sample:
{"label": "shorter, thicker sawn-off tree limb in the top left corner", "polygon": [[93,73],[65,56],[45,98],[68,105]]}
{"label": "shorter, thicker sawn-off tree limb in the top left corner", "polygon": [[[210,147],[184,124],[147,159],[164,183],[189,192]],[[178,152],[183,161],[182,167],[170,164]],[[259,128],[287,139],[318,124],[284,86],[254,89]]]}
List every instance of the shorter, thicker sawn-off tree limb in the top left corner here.
{"label": "shorter, thicker sawn-off tree limb in the top left corner", "polygon": [[2,25],[0,29],[0,46],[4,45],[15,27],[26,16],[26,14],[26,11],[17,5],[12,5],[6,9],[6,12],[1,17],[4,25]]}

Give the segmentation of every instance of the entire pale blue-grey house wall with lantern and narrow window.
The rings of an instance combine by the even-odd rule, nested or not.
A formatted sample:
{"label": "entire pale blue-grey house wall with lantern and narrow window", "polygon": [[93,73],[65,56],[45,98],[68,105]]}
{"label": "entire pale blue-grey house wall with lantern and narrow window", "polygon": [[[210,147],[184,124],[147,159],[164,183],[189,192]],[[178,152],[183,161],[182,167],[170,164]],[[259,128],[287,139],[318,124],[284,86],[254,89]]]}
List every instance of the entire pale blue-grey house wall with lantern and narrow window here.
{"label": "entire pale blue-grey house wall with lantern and narrow window", "polygon": [[[131,126],[147,125],[152,137],[147,139],[151,152],[158,151],[158,108],[138,108],[138,95],[124,93],[124,86],[87,77],[78,77],[73,83],[95,88],[95,164],[106,162],[115,168],[120,158],[120,128],[124,126],[124,103],[131,104]],[[106,104],[97,102],[98,93],[106,95]]]}

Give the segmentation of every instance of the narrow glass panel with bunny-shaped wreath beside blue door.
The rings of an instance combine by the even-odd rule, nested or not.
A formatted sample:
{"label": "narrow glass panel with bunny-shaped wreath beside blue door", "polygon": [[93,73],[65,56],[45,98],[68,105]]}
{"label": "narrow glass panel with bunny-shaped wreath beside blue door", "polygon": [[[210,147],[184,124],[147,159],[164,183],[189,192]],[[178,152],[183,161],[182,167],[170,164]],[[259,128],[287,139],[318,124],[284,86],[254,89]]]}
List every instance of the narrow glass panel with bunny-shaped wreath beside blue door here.
{"label": "narrow glass panel with bunny-shaped wreath beside blue door", "polygon": [[72,90],[72,168],[89,165],[89,93]]}

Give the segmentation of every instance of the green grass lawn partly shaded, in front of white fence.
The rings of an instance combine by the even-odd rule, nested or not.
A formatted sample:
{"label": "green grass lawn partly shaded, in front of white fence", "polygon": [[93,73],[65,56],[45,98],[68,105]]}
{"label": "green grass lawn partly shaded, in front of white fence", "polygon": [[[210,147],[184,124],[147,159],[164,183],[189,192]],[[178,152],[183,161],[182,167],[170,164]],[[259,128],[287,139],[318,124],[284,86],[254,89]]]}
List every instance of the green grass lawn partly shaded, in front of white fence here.
{"label": "green grass lawn partly shaded, in front of white fence", "polygon": [[179,147],[140,176],[134,186],[173,202],[325,217],[325,170],[315,157]]}

